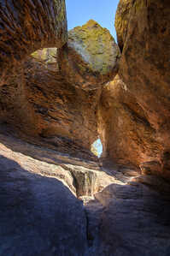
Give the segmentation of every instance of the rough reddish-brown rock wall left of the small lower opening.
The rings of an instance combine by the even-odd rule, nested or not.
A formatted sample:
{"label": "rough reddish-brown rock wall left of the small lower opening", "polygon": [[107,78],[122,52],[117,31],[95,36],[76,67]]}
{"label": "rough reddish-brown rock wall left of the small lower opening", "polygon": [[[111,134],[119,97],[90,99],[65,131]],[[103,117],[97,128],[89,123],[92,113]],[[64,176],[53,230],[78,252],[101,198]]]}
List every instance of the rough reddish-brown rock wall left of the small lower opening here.
{"label": "rough reddish-brown rock wall left of the small lower opening", "polygon": [[47,50],[39,59],[38,53],[33,56],[0,87],[0,121],[13,125],[28,141],[95,159],[91,144],[97,140],[101,89],[85,92],[67,83]]}

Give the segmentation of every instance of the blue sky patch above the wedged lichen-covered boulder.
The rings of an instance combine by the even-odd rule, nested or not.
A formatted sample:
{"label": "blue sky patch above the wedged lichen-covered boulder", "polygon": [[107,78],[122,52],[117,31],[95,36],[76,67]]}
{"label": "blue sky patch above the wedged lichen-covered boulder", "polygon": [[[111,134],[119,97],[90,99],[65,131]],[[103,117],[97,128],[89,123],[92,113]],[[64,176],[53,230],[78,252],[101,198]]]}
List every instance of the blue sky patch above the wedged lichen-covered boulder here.
{"label": "blue sky patch above the wedged lichen-covered boulder", "polygon": [[114,16],[119,0],[66,0],[68,30],[89,20],[108,28],[116,39]]}

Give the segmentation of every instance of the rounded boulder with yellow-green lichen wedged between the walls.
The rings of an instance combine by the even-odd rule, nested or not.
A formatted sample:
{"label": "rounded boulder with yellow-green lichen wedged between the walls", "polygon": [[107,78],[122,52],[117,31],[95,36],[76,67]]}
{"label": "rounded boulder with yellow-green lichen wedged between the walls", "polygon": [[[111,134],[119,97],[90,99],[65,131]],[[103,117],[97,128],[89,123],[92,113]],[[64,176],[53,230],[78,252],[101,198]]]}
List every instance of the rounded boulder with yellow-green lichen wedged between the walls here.
{"label": "rounded boulder with yellow-green lichen wedged between the walls", "polygon": [[68,32],[58,51],[59,68],[67,81],[85,90],[95,89],[117,74],[119,47],[106,28],[90,20]]}

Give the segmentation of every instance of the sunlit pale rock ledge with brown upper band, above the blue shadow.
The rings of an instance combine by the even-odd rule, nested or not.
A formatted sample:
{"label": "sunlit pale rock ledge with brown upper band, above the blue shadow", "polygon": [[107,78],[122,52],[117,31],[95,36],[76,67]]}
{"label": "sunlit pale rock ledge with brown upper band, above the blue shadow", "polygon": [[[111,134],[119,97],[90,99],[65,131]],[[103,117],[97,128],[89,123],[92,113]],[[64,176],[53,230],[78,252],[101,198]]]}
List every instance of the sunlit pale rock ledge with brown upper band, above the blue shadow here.
{"label": "sunlit pale rock ledge with brown upper band, above the blue shadow", "polygon": [[0,154],[4,158],[17,162],[26,171],[62,180],[77,197],[92,196],[115,182],[97,161],[73,158],[71,154],[32,145],[4,125],[0,126],[0,133]]}

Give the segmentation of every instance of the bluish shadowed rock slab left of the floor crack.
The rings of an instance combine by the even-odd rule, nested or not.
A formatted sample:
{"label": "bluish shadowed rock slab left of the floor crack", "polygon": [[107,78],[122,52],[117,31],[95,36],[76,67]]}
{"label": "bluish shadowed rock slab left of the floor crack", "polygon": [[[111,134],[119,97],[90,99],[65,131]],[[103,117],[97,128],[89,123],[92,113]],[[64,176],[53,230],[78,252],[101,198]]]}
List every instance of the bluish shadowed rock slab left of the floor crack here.
{"label": "bluish shadowed rock slab left of the floor crack", "polygon": [[62,182],[3,156],[0,182],[0,255],[83,255],[85,211]]}

